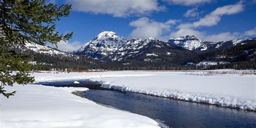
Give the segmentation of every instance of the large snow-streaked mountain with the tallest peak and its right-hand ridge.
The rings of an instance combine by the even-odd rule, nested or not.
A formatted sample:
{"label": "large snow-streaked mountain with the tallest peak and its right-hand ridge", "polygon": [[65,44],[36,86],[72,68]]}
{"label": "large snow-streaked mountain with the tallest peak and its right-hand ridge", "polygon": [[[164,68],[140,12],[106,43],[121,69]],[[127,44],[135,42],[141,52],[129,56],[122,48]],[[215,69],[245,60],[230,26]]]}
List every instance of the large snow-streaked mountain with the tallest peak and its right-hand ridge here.
{"label": "large snow-streaked mountain with the tallest peak and its right-hand ridge", "polygon": [[173,57],[187,55],[188,52],[186,49],[159,41],[153,37],[126,39],[112,31],[100,32],[98,36],[84,44],[79,50],[72,51],[75,55],[84,55],[99,59],[102,62],[138,60],[138,57],[141,58],[142,62],[159,62],[162,60],[167,62],[174,60]]}

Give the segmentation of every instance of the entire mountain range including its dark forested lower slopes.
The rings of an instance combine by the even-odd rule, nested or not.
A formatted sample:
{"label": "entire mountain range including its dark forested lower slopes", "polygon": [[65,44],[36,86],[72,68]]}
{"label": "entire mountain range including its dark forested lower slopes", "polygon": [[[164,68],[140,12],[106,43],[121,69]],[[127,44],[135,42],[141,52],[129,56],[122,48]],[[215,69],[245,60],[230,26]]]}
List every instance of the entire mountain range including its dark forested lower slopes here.
{"label": "entire mountain range including its dark forested lower slopes", "polygon": [[256,38],[227,42],[201,41],[195,36],[126,39],[112,31],[100,32],[80,49],[63,52],[27,42],[18,53],[33,56],[44,70],[189,70],[256,68]]}

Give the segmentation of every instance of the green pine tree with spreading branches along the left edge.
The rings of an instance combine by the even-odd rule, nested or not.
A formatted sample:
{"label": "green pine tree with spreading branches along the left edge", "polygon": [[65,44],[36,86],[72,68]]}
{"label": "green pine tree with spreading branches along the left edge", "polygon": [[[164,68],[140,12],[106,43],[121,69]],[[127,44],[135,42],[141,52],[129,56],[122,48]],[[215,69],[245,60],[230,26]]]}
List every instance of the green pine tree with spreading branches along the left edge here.
{"label": "green pine tree with spreading branches along the left edge", "polygon": [[[71,5],[47,4],[44,0],[0,0],[0,93],[5,97],[14,95],[4,86],[14,83],[28,84],[34,81],[29,76],[33,68],[28,56],[18,55],[15,46],[26,42],[57,44],[72,37],[72,32],[60,35],[56,32],[56,21],[68,17]],[[15,71],[15,72],[14,72]]]}

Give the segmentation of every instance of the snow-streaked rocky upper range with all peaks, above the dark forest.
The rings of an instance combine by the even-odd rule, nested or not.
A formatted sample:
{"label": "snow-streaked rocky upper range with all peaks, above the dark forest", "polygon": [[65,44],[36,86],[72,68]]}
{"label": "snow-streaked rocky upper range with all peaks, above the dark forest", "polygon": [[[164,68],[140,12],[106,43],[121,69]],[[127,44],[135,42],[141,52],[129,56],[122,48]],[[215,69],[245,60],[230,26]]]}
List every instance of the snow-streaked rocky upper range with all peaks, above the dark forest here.
{"label": "snow-streaked rocky upper range with all peaks, above the dark forest", "polygon": [[100,32],[75,55],[83,55],[101,62],[131,63],[170,63],[183,65],[200,53],[223,50],[233,46],[256,42],[256,38],[237,39],[227,42],[201,41],[196,36],[171,38],[163,42],[153,37],[147,39],[126,39],[112,31]]}

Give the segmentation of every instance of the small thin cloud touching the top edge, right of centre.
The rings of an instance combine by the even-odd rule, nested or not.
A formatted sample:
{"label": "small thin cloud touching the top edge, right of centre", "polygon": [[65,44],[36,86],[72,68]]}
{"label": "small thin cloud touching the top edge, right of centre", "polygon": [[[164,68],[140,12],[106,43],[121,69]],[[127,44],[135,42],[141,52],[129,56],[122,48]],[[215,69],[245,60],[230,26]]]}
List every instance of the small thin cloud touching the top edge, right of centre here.
{"label": "small thin cloud touching the top edge, right of centre", "polygon": [[213,2],[213,0],[163,0],[163,1],[169,4],[185,5],[185,6],[199,5],[199,4]]}

